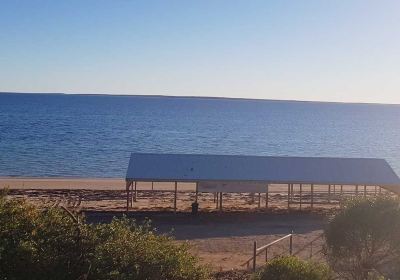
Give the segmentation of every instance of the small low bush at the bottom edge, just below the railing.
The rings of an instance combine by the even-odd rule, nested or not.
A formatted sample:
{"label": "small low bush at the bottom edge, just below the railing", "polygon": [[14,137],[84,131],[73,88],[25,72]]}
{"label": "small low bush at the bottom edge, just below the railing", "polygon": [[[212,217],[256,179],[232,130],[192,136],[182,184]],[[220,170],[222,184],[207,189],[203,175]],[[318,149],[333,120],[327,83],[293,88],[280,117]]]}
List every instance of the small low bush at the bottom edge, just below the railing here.
{"label": "small low bush at the bottom edge, just below the railing", "polygon": [[297,257],[273,259],[257,272],[253,280],[330,280],[329,268],[322,264],[306,262]]}

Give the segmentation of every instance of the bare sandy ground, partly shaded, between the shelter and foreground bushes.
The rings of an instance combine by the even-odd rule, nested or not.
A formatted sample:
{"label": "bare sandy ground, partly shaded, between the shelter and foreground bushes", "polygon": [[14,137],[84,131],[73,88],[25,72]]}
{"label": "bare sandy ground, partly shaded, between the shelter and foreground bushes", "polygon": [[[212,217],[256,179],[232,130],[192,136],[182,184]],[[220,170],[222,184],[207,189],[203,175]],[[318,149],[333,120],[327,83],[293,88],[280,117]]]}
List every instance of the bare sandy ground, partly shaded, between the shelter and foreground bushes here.
{"label": "bare sandy ground, partly shaded, between the shelter and foreground bushes", "polygon": [[[262,246],[292,230],[295,232],[295,252],[320,235],[326,221],[322,215],[306,212],[214,212],[201,213],[199,216],[188,213],[136,212],[131,215],[139,221],[145,217],[150,218],[158,232],[172,232],[178,242],[189,242],[193,246],[193,253],[217,271],[245,268],[241,264],[251,257],[254,241]],[[110,213],[87,213],[88,220],[93,222],[108,221],[112,216]],[[314,244],[314,252],[321,245],[322,240],[318,240]],[[289,240],[285,240],[269,251],[269,257],[287,254],[288,248]],[[310,248],[307,248],[300,256],[308,257],[309,253]],[[264,254],[257,259],[259,264],[264,260]]]}

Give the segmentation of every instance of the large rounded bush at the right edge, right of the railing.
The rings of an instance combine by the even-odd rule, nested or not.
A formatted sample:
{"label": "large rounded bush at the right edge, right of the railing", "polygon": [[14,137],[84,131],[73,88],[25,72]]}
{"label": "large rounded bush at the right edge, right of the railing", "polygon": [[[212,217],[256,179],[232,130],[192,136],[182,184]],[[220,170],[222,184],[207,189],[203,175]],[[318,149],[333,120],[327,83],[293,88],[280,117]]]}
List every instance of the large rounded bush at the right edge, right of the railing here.
{"label": "large rounded bush at the right edge, right of the railing", "polygon": [[341,279],[400,275],[398,199],[350,201],[329,223],[325,236],[328,261]]}

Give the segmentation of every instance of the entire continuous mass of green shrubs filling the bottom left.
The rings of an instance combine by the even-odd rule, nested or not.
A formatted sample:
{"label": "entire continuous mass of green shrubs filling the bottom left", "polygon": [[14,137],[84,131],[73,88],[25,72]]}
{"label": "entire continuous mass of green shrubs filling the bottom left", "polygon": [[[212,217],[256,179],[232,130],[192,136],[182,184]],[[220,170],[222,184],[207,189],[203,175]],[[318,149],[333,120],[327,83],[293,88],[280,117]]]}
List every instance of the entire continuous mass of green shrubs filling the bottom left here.
{"label": "entire continuous mass of green shrubs filling the bottom left", "polygon": [[0,279],[206,279],[166,236],[126,218],[88,225],[68,212],[0,196]]}

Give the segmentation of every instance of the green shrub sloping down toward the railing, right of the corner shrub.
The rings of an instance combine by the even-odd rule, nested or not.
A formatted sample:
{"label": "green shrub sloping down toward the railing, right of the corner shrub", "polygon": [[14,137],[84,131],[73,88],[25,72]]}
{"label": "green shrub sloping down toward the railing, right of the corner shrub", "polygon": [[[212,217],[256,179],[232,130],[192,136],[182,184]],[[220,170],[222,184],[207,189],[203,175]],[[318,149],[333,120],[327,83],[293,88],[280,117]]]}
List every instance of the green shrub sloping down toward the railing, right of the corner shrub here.
{"label": "green shrub sloping down toward the railing, right of the corner shrub", "polygon": [[93,279],[205,279],[206,270],[188,246],[154,234],[148,225],[114,219],[96,227]]}

